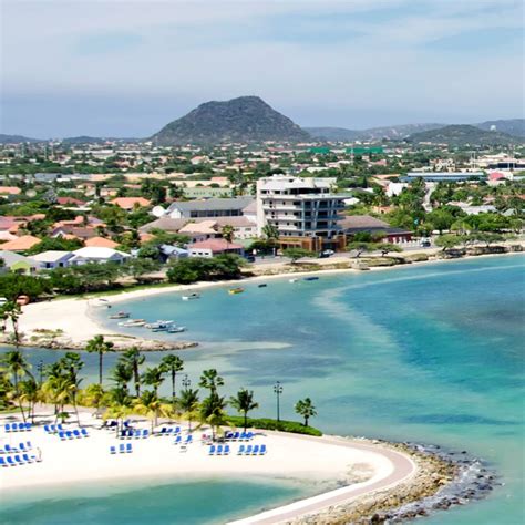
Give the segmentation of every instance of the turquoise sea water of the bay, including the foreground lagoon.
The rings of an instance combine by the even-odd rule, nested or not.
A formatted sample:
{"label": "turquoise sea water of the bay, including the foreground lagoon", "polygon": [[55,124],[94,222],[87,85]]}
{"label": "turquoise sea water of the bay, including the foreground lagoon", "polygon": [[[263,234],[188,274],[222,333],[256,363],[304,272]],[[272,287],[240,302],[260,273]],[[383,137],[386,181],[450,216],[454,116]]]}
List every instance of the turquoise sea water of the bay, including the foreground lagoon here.
{"label": "turquoise sea water of the bay, including the foreground lagoon", "polygon": [[[202,343],[181,352],[193,385],[203,369],[217,368],[224,393],[255,391],[260,415],[275,415],[272,384],[279,380],[284,418],[294,419],[295,402],[310,397],[319,413],[312,423],[327,433],[434,443],[482,457],[504,485],[482,502],[425,521],[514,525],[525,522],[524,262],[503,256],[317,281],[268,280],[267,288],[248,284],[236,296],[213,287],[195,301],[167,294],[117,308],[185,325],[186,333],[164,337]],[[56,356],[25,351],[33,363]],[[84,359],[95,380],[95,358]],[[114,360],[105,359],[106,369]],[[83,487],[10,498],[0,522],[224,523],[313,491],[268,480]]]}

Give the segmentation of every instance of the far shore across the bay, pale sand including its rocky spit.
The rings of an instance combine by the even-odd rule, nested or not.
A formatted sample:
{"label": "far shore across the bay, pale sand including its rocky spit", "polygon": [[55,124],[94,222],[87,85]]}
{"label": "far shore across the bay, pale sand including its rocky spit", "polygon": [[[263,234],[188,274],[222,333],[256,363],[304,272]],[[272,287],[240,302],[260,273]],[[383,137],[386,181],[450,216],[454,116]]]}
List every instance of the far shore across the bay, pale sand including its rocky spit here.
{"label": "far shore across the bay, pale sand including its rocky spit", "polygon": [[[394,266],[375,266],[370,271],[387,271],[399,268],[411,267],[412,265],[433,265],[449,261],[469,260],[480,257],[504,257],[524,255],[519,251],[505,254],[484,254],[476,256],[466,256],[461,258],[435,258],[430,260],[413,261],[411,264],[399,264]],[[348,261],[347,261],[348,262]],[[86,296],[85,298],[68,298],[55,301],[33,302],[22,308],[23,315],[20,316],[19,330],[22,336],[21,346],[45,349],[68,349],[82,350],[89,339],[96,334],[103,334],[114,342],[115,349],[124,349],[130,346],[137,346],[143,351],[168,351],[195,348],[197,341],[159,341],[147,337],[133,337],[124,331],[109,330],[94,316],[95,309],[101,309],[100,303],[107,301],[111,305],[119,305],[128,300],[154,297],[162,294],[177,294],[185,291],[199,291],[214,287],[239,286],[244,282],[260,282],[268,280],[278,280],[285,278],[302,278],[320,275],[344,275],[359,274],[360,269],[352,267],[330,268],[330,269],[309,269],[300,271],[300,268],[290,268],[291,271],[280,271],[272,275],[258,275],[246,277],[244,279],[223,280],[223,281],[200,281],[192,285],[173,285],[162,288],[142,288],[140,290],[122,291],[117,295],[106,296]],[[101,301],[102,300],[102,301]],[[99,306],[95,306],[99,305]],[[1,344],[9,344],[9,333],[0,339]]]}

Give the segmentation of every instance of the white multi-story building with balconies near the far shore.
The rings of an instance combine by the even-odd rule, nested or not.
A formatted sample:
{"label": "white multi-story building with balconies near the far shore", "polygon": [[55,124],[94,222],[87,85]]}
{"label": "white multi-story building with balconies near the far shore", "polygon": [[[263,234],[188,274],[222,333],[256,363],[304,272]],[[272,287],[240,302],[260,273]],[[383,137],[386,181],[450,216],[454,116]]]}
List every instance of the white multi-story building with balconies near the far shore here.
{"label": "white multi-story building with balconies near the far shore", "polygon": [[346,195],[332,193],[334,178],[298,178],[285,175],[257,182],[257,233],[270,224],[279,230],[281,246],[315,251],[343,248],[338,226]]}

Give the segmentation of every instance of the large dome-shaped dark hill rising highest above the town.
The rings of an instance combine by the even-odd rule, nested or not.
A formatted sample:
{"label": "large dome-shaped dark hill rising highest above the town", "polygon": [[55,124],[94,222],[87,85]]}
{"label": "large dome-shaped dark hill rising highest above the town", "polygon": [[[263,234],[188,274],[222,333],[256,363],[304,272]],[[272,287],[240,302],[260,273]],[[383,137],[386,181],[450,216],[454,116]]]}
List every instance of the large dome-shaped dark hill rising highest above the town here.
{"label": "large dome-shaped dark hill rising highest above the town", "polygon": [[159,145],[228,142],[301,142],[310,135],[258,96],[206,102],[171,122],[151,140]]}

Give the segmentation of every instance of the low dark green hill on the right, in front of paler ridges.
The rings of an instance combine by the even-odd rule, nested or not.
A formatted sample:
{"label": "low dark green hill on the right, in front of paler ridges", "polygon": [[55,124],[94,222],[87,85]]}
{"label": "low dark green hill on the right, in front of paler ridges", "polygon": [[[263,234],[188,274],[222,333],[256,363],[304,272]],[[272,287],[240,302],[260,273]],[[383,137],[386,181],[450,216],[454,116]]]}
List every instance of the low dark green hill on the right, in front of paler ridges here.
{"label": "low dark green hill on the right, in front of paler ridges", "polygon": [[414,143],[449,144],[452,146],[485,146],[522,144],[517,137],[495,131],[484,131],[471,125],[451,125],[421,133],[413,133],[408,138]]}

